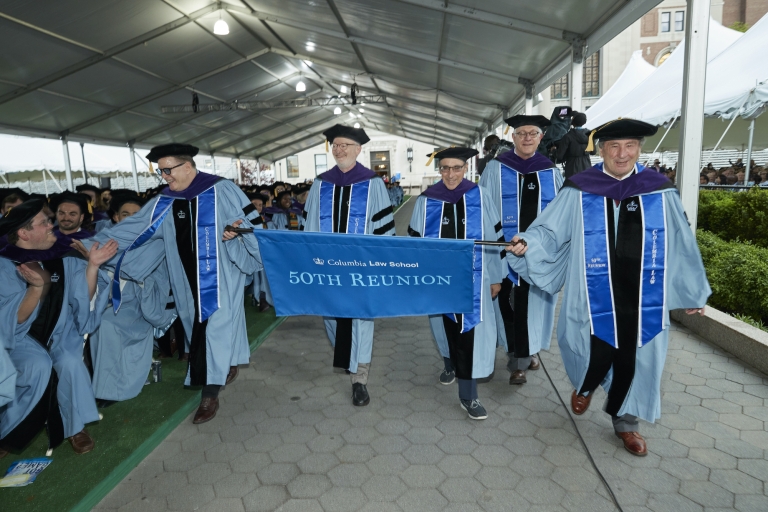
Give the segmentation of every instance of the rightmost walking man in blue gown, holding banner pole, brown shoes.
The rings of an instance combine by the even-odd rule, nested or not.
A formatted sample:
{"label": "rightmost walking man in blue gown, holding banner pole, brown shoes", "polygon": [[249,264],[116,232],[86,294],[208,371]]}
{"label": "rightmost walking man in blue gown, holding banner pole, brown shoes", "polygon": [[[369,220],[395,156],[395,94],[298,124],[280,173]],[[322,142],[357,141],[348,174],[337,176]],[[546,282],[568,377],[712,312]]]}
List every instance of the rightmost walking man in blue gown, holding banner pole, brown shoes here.
{"label": "rightmost walking man in blue gown, holding banner pole, brown shoes", "polygon": [[640,456],[648,451],[638,418],[661,416],[669,310],[704,314],[711,293],[677,190],[637,164],[643,138],[654,133],[633,119],[594,130],[603,163],[566,180],[512,239],[527,246],[507,247],[507,261],[526,280],[550,293],[565,286],[557,338],[574,414],[602,384],[616,435]]}

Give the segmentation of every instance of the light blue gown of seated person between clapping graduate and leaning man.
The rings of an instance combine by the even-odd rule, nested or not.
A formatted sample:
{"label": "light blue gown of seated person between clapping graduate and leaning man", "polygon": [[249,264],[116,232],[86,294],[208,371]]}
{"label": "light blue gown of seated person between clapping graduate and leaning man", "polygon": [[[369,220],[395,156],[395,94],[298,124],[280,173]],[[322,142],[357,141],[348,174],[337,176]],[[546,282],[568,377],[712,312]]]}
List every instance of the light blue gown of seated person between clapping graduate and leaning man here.
{"label": "light blue gown of seated person between clapping graduate and leaning man", "polygon": [[108,303],[91,335],[96,398],[128,400],[141,392],[152,364],[154,328],[167,328],[176,317],[175,308],[166,309],[170,286],[165,263],[143,283],[120,280],[120,309],[115,313]]}

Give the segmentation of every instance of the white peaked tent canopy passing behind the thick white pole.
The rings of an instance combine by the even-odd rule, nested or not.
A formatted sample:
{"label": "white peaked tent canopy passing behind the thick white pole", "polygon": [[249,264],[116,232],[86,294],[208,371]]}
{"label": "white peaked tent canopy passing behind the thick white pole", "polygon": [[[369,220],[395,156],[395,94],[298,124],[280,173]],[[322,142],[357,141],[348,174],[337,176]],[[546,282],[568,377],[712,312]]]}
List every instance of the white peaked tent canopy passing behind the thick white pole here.
{"label": "white peaked tent canopy passing behind the thick white pole", "polygon": [[[712,63],[718,55],[741,36],[740,32],[725,28],[716,21],[710,20],[707,61]],[[641,119],[657,125],[674,118],[675,114],[680,112],[682,103],[684,46],[684,43],[680,44],[654,73],[639,82],[624,97],[604,108],[602,112],[593,113],[590,109],[587,126],[595,128],[619,117]],[[711,68],[708,69],[708,76],[710,76],[710,72]],[[728,80],[728,77],[721,78]],[[711,82],[708,80],[707,88],[709,89],[710,86]],[[660,110],[665,111],[665,113],[660,115]],[[651,112],[656,112],[656,114],[652,115]],[[671,115],[668,115],[670,113]],[[668,115],[668,117],[664,118],[664,115]]]}

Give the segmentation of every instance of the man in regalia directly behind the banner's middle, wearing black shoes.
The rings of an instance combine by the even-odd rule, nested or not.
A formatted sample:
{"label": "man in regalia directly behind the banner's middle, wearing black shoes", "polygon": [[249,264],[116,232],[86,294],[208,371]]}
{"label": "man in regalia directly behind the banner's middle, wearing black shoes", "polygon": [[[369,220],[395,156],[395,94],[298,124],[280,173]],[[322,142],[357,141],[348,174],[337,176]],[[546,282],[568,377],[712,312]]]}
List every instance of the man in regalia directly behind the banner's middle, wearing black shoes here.
{"label": "man in regalia directly behind the banner's middle, wearing black shoes", "polygon": [[[357,162],[370,139],[361,128],[334,125],[323,135],[333,144],[336,165],[317,177],[305,205],[305,231],[394,235],[395,220],[384,181]],[[368,405],[368,370],[373,351],[373,320],[325,318],[334,347],[333,366],[352,375],[352,404]]]}

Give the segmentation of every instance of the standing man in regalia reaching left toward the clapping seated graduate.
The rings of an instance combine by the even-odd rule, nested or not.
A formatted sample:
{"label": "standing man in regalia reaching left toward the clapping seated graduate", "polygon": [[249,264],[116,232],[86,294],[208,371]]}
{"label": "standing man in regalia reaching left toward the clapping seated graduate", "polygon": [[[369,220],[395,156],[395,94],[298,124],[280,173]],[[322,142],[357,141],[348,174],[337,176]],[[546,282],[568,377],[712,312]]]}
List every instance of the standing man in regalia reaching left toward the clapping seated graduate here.
{"label": "standing man in regalia reaching left toward the clapping seated graduate", "polygon": [[224,227],[261,228],[256,208],[237,185],[198,172],[197,152],[186,144],[152,148],[147,158],[157,163],[168,186],[136,215],[94,237],[120,244],[112,284],[116,311],[119,280],[144,282],[167,265],[189,344],[185,384],[203,386],[196,424],[213,419],[221,387],[237,377],[237,365],[250,360],[243,289],[246,276],[260,268],[258,245],[255,237],[236,236]]}

